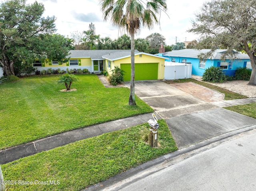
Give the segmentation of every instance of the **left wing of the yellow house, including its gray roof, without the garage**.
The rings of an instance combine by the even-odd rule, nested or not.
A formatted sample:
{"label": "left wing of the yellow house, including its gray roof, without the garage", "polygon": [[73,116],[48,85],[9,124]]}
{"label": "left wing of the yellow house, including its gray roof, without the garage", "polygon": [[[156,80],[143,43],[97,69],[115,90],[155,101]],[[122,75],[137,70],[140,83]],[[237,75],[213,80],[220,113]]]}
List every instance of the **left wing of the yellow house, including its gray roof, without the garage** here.
{"label": "left wing of the yellow house, including its gray roof, without the garage", "polygon": [[90,73],[100,73],[103,70],[105,59],[102,55],[113,52],[127,52],[129,50],[70,50],[70,57],[67,63],[60,63],[58,61],[46,59],[44,62],[35,61],[34,68],[39,71],[52,68],[54,70],[60,68],[61,70],[68,69],[88,69]]}

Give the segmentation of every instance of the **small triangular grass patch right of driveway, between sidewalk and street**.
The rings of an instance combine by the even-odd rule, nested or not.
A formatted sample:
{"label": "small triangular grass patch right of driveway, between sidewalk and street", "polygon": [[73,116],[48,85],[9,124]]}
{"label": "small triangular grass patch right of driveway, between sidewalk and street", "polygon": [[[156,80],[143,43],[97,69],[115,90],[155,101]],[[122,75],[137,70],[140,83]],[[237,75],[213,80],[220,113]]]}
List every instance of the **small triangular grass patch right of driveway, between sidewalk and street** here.
{"label": "small triangular grass patch right of driveway, between sidewalk and street", "polygon": [[256,103],[225,107],[225,109],[256,118]]}

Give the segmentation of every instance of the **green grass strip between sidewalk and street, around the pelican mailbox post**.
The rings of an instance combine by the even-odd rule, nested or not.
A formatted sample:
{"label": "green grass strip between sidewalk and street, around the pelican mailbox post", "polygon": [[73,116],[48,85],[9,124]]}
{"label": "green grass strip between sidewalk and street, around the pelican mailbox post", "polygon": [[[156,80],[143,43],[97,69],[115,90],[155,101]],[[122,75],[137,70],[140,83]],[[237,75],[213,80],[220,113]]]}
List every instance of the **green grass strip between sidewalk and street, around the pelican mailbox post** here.
{"label": "green grass strip between sidewalk and street, around the pelican mailbox post", "polygon": [[[158,121],[159,148],[144,142],[148,124],[102,134],[2,165],[4,180],[32,181],[7,185],[8,191],[79,191],[178,148],[164,120]],[[58,185],[35,185],[55,180]]]}

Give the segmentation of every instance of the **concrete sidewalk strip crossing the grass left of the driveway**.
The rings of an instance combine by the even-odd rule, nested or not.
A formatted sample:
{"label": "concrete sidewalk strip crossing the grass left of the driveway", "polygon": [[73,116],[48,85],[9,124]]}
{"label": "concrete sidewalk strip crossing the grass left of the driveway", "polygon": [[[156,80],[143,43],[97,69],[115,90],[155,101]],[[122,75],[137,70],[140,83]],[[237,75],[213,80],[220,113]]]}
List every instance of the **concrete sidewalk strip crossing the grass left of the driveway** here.
{"label": "concrete sidewalk strip crossing the grass left of the driveway", "polygon": [[[156,117],[158,119],[161,119],[161,117],[157,114]],[[103,133],[126,129],[139,124],[143,124],[146,123],[149,119],[152,119],[152,113],[88,126],[46,137],[40,140],[36,140],[34,142],[29,142],[26,144],[0,150],[0,164],[5,164],[19,158],[30,156],[42,151],[51,150],[56,147],[64,146],[66,144],[70,144],[72,142],[76,142],[86,138],[98,136]]]}

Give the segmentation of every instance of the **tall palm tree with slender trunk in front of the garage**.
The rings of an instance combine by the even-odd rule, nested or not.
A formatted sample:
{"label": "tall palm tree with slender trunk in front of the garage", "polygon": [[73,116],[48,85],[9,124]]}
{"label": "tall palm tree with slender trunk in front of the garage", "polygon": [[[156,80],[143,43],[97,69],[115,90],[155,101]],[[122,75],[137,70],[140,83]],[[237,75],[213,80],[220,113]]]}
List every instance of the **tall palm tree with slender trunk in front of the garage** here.
{"label": "tall palm tree with slender trunk in front of the garage", "polygon": [[129,105],[136,105],[134,95],[134,34],[142,26],[149,29],[158,24],[156,14],[166,10],[166,0],[100,0],[104,20],[110,17],[115,26],[125,28],[131,35],[131,84]]}

